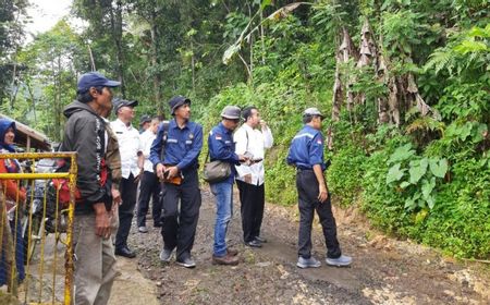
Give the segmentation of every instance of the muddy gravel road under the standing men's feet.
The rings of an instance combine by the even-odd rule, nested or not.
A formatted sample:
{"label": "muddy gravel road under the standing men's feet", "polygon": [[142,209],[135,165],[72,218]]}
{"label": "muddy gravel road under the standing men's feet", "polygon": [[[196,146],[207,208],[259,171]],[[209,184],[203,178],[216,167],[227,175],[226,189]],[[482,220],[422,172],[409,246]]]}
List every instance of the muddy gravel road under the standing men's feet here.
{"label": "muddy gravel road under the standing men's feet", "polygon": [[242,261],[236,267],[213,266],[215,204],[204,190],[193,251],[197,267],[185,269],[174,259],[160,263],[159,229],[151,222],[146,234],[133,228],[130,244],[138,256],[120,258],[122,274],[111,304],[490,304],[488,265],[464,264],[428,247],[385,237],[369,229],[355,210],[334,213],[343,252],[354,259],[351,268],[324,265],[318,223],[313,254],[322,266],[306,270],[295,266],[295,207],[267,205],[262,235],[269,242],[258,249],[245,247],[236,199],[228,236]]}

